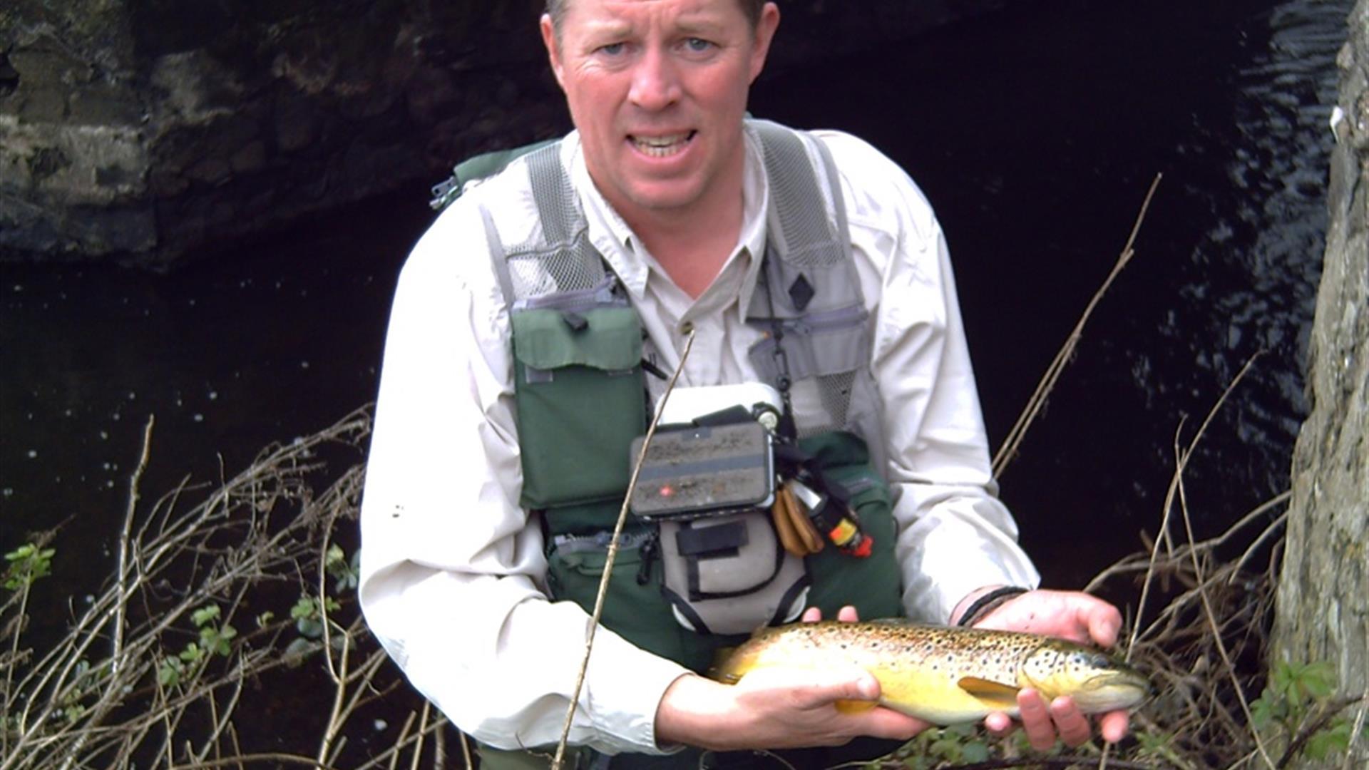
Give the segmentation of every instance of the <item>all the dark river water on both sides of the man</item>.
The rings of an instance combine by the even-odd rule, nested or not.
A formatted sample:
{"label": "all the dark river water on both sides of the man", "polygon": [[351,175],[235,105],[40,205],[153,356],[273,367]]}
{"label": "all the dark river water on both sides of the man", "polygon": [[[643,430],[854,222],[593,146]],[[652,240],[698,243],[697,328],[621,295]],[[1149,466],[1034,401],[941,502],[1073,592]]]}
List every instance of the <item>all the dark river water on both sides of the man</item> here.
{"label": "all the dark river water on both sides of the man", "polygon": [[[1190,503],[1213,530],[1287,485],[1350,5],[1023,0],[757,85],[754,112],[864,136],[936,206],[995,444],[1165,174],[1135,262],[1003,475],[1051,582],[1154,530],[1176,432],[1187,440],[1257,351],[1194,460]],[[0,267],[0,548],[70,521],[57,570],[88,591],[149,414],[155,496],[371,400],[423,196],[170,277]]]}

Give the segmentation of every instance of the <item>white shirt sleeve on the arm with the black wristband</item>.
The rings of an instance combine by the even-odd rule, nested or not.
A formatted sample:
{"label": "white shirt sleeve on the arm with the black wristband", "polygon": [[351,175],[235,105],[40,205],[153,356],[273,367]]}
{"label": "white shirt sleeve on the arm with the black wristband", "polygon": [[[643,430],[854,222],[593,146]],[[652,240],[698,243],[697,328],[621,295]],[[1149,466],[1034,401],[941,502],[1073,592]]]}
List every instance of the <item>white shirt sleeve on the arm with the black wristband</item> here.
{"label": "white shirt sleeve on the arm with the black wristband", "polygon": [[842,175],[852,243],[875,314],[897,555],[910,618],[945,623],[977,588],[1040,577],[998,500],[950,256],[921,190],[875,148],[820,134]]}

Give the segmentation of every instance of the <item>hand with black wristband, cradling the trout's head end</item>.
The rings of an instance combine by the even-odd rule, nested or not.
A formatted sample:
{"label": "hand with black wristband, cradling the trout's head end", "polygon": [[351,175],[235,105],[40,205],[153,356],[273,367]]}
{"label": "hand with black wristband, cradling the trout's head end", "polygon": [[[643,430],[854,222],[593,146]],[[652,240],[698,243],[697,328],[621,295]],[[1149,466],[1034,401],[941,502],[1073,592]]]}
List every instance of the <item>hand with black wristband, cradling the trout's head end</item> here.
{"label": "hand with black wristband, cradling the trout's head end", "polygon": [[[995,607],[975,628],[1031,632],[1079,644],[1112,647],[1117,644],[1117,633],[1121,630],[1121,612],[1102,599],[1077,591],[1029,591]],[[1057,737],[1071,747],[1088,743],[1092,737],[1088,718],[1066,696],[1047,704],[1039,692],[1027,688],[1017,693],[1017,708],[1021,711],[1027,740],[1038,751],[1054,745]],[[1117,743],[1127,736],[1125,711],[1103,714],[1098,723],[1108,743]],[[1003,712],[990,714],[984,726],[997,736],[1008,734],[1014,728],[1012,718]]]}

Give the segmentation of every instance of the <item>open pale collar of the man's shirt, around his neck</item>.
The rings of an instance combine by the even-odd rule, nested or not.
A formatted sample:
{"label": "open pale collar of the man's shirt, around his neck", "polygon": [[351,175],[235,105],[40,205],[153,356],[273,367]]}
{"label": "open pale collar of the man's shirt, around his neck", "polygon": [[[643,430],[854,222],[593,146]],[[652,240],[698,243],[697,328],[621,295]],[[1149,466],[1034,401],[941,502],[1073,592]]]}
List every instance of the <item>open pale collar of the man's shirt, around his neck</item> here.
{"label": "open pale collar of the man's shirt, around his neck", "polygon": [[[760,275],[760,255],[765,253],[765,211],[769,206],[769,181],[765,178],[760,137],[750,125],[745,126],[742,136],[746,142],[746,166],[742,174],[742,230],[728,262],[732,259],[747,260],[738,292],[738,301],[745,315]],[[561,163],[570,170],[571,185],[579,195],[580,206],[585,210],[590,243],[609,263],[632,299],[641,300],[646,292],[646,277],[652,263],[632,229],[619,216],[617,211],[613,211],[613,207],[590,179],[579,132],[571,132],[561,142]]]}

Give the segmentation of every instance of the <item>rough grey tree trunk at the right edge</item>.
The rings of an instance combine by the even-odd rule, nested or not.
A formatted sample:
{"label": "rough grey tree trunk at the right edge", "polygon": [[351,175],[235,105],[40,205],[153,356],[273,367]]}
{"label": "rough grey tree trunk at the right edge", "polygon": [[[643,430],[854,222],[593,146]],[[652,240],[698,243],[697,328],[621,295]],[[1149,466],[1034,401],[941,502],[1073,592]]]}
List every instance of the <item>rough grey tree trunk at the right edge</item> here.
{"label": "rough grey tree trunk at the right edge", "polygon": [[1358,697],[1369,691],[1369,0],[1350,15],[1338,64],[1343,119],[1307,364],[1312,410],[1294,449],[1273,655],[1332,662],[1340,693]]}

